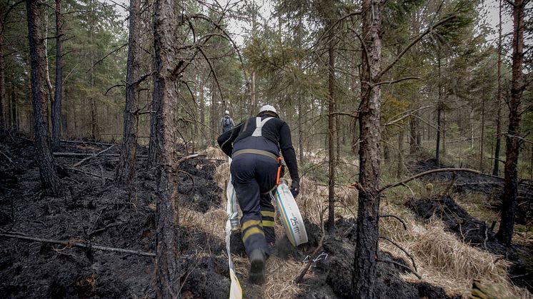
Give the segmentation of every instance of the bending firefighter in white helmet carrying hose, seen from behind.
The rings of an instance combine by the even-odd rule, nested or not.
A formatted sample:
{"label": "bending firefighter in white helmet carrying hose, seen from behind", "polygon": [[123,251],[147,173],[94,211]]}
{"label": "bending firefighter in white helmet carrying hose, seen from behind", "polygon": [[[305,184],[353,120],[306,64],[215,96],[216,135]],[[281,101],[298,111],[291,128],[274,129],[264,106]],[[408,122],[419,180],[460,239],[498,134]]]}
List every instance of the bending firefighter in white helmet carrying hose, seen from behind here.
{"label": "bending firefighter in white helmet carrying hose, seen from behind", "polygon": [[231,162],[231,183],[243,216],[241,234],[250,260],[249,280],[264,283],[264,265],[276,242],[274,206],[270,192],[276,188],[279,153],[283,154],[292,178],[291,193],[299,193],[296,153],[291,131],[279,119],[276,108],[262,106],[256,117],[248,118],[222,133],[217,142]]}

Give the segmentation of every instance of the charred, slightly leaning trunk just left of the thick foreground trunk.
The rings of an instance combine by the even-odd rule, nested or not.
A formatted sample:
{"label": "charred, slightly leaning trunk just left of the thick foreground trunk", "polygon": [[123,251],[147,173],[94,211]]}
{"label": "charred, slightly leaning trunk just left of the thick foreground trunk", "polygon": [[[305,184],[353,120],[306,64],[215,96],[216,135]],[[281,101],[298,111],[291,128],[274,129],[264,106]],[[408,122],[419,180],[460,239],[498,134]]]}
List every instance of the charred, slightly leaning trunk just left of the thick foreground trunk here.
{"label": "charred, slightly leaning trunk just left of the thick foreground trunk", "polygon": [[129,2],[129,39],[128,62],[126,69],[126,108],[124,108],[124,134],[120,151],[119,166],[116,168],[116,181],[129,183],[135,174],[135,158],[137,153],[137,123],[139,114],[137,105],[139,100],[139,51],[141,43],[139,33],[140,0]]}

